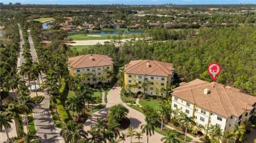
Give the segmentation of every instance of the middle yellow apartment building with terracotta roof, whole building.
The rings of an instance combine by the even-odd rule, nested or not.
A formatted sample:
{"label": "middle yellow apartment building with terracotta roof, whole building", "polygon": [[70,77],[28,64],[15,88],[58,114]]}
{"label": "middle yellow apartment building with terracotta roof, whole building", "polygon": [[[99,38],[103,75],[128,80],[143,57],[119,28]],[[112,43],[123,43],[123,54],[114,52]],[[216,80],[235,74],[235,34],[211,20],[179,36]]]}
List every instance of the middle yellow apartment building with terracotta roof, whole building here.
{"label": "middle yellow apartment building with terracotta roof, whole building", "polygon": [[[157,89],[171,86],[174,70],[172,63],[153,60],[130,61],[124,69],[125,86],[138,83],[139,87],[137,89],[132,88],[131,91],[156,95]],[[142,83],[147,81],[151,84],[144,90]]]}

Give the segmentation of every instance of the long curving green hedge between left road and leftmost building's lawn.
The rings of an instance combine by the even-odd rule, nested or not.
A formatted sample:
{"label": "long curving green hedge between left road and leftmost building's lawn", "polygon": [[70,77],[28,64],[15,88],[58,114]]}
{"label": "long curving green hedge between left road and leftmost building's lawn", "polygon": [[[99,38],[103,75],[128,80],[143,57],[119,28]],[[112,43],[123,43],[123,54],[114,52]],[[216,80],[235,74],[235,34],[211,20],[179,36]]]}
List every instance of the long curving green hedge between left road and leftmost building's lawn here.
{"label": "long curving green hedge between left road and leftmost building's lawn", "polygon": [[60,98],[57,99],[57,108],[58,108],[58,114],[60,114],[60,119],[64,121],[64,123],[68,123],[68,121],[70,120],[70,116],[68,116],[68,113],[64,108],[65,101],[68,96],[68,90],[67,90],[66,82],[64,82],[65,80],[62,79],[62,81],[63,82],[59,90]]}

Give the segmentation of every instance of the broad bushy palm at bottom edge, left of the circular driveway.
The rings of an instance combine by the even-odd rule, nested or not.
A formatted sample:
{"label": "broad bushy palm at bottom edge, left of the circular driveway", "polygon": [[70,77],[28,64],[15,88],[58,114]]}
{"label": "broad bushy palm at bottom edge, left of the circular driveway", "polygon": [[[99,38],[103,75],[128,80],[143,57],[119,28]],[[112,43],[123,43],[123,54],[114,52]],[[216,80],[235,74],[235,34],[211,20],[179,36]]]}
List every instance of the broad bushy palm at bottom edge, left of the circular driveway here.
{"label": "broad bushy palm at bottom edge, left of the circular driveway", "polygon": [[68,121],[66,126],[60,131],[60,135],[65,142],[79,142],[83,138],[87,138],[88,133],[83,130],[83,124],[77,125],[75,121]]}

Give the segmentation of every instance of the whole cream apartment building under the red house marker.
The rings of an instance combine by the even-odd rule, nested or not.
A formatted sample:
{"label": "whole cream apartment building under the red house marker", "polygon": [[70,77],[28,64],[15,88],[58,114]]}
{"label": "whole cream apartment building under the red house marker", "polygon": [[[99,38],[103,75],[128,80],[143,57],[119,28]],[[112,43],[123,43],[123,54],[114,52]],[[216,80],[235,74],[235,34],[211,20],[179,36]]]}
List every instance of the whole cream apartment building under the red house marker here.
{"label": "whole cream apartment building under the red house marker", "polygon": [[[222,131],[234,131],[235,125],[250,121],[256,107],[256,97],[240,92],[239,89],[216,82],[193,80],[173,89],[172,108],[181,108],[194,117],[198,129],[217,125]],[[224,140],[222,140],[224,141]]]}

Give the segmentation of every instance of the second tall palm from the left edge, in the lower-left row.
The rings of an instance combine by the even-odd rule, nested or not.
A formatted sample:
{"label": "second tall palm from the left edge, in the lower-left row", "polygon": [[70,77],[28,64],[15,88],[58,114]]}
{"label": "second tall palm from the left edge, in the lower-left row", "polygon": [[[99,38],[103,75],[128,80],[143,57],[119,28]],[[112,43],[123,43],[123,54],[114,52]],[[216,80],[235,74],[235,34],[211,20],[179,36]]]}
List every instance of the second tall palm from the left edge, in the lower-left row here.
{"label": "second tall palm from the left edge, in the lower-left row", "polygon": [[23,133],[19,133],[19,130],[17,127],[18,121],[20,120],[20,114],[23,114],[22,110],[20,110],[20,105],[17,104],[16,102],[9,104],[7,108],[7,114],[8,116],[11,116],[12,118],[14,118],[14,122],[15,122],[14,125],[17,131],[17,136],[21,136]]}

